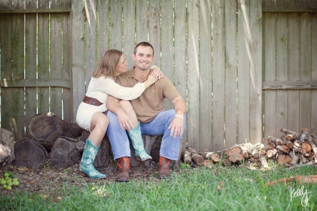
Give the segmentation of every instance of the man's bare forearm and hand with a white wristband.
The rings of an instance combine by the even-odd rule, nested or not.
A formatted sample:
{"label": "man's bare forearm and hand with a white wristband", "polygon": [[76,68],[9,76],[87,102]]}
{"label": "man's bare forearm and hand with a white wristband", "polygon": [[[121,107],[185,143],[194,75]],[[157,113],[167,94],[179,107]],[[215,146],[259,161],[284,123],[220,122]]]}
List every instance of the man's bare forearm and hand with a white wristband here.
{"label": "man's bare forearm and hand with a white wristband", "polygon": [[172,103],[175,105],[174,108],[176,110],[176,115],[171,122],[171,125],[168,129],[171,129],[171,136],[174,133],[174,138],[176,138],[179,134],[183,135],[183,123],[184,123],[184,113],[186,112],[186,103],[182,97],[175,98]]}

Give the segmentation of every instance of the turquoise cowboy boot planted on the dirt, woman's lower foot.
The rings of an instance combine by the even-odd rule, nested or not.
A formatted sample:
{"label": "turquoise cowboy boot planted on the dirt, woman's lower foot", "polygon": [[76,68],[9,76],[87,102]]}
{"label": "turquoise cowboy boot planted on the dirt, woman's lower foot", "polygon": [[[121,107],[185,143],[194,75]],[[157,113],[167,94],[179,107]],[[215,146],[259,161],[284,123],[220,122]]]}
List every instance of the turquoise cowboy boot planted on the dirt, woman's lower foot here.
{"label": "turquoise cowboy boot planted on the dirt, woman's lower foot", "polygon": [[79,164],[81,176],[88,176],[93,179],[106,177],[105,174],[101,174],[97,171],[93,165],[99,146],[95,147],[94,144],[91,143],[90,139],[87,139],[84,152],[82,153],[81,162]]}

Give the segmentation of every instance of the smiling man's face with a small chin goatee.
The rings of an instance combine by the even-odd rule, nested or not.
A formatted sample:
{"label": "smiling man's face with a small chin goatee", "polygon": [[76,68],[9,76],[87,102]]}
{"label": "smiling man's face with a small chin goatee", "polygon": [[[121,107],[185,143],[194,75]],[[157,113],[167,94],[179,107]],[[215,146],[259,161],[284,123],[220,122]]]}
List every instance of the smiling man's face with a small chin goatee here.
{"label": "smiling man's face with a small chin goatee", "polygon": [[132,54],[135,67],[140,68],[141,70],[147,70],[151,67],[153,62],[153,50],[151,47],[139,46],[136,49],[135,54]]}

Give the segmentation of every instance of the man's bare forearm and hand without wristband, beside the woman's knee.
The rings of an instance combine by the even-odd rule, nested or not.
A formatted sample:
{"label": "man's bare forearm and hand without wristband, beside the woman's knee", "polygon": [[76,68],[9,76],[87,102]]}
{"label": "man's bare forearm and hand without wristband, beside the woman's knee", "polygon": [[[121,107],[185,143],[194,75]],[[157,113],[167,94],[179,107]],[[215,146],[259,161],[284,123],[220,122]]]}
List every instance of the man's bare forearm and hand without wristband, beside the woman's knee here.
{"label": "man's bare forearm and hand without wristband, beside the woman's knee", "polygon": [[131,118],[120,108],[119,99],[114,98],[111,95],[108,95],[106,101],[106,107],[109,111],[115,113],[118,117],[118,121],[122,130],[130,130],[130,127],[133,128],[133,122]]}

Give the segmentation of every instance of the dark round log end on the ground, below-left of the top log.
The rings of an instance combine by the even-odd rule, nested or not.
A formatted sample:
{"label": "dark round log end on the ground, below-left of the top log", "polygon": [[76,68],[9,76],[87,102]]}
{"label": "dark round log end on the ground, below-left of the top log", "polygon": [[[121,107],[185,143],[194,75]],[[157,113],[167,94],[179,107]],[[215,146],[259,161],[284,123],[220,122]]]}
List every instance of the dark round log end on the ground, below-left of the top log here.
{"label": "dark round log end on the ground, below-left of the top log", "polygon": [[23,139],[14,145],[15,160],[12,165],[29,169],[40,169],[49,160],[45,148],[32,139]]}

